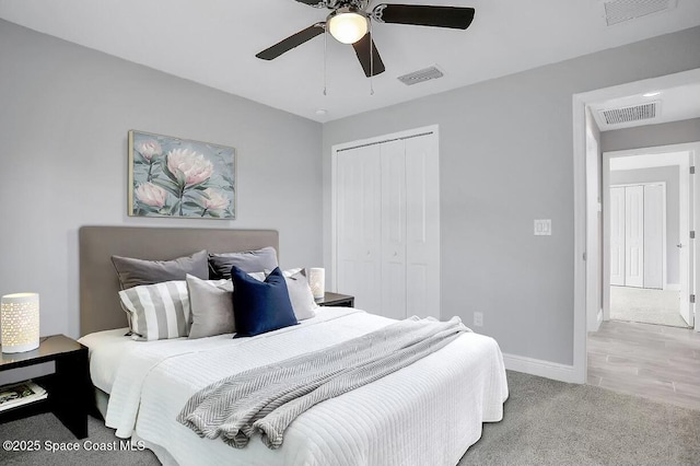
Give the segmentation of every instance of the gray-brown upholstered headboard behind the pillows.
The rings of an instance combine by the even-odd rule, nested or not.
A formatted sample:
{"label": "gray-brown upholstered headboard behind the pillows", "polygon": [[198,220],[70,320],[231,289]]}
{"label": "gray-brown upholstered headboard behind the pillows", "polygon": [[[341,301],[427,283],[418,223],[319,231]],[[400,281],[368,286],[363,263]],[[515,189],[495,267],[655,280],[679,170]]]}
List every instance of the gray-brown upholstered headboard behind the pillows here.
{"label": "gray-brown upholstered headboard behind the pillows", "polygon": [[119,305],[119,281],[112,256],[170,260],[201,249],[234,253],[272,246],[275,230],[82,226],[80,242],[80,335],[127,326]]}

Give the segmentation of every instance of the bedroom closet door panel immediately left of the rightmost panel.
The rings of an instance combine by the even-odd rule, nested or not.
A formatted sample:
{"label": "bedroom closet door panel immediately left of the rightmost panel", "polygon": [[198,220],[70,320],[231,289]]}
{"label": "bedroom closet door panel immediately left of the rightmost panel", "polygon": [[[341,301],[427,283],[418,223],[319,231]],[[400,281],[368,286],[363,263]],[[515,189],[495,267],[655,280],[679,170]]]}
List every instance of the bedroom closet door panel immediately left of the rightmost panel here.
{"label": "bedroom closet door panel immediately left of the rightmost panel", "polygon": [[382,315],[406,318],[406,150],[402,140],[382,153]]}

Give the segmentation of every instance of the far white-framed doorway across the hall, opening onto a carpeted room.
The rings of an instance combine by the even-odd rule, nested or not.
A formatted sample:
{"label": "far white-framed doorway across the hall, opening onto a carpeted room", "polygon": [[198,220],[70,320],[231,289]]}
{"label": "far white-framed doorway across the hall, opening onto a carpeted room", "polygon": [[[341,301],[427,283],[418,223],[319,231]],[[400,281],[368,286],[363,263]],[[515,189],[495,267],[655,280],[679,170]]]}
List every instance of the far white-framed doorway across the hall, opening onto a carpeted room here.
{"label": "far white-framed doorway across the hall, opening onto a carpeted room", "polygon": [[609,286],[605,321],[685,328],[691,324],[689,305],[681,306],[689,276],[680,271],[680,264],[689,264],[688,244],[682,248],[680,232],[690,224],[690,193],[680,182],[690,176],[690,153],[669,150],[604,154],[603,165],[609,170],[604,186],[608,194],[605,218],[609,219],[604,229],[604,251],[609,252],[604,260],[609,263],[609,280],[604,280]]}

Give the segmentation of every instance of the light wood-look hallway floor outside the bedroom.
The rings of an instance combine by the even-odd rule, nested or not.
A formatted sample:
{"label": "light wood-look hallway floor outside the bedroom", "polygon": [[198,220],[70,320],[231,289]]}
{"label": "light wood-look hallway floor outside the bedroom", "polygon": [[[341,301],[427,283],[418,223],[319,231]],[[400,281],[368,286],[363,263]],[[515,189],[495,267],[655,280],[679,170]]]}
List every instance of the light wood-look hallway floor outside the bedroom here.
{"label": "light wood-look hallway floor outside the bedroom", "polygon": [[587,383],[700,409],[700,333],[604,322],[588,334]]}

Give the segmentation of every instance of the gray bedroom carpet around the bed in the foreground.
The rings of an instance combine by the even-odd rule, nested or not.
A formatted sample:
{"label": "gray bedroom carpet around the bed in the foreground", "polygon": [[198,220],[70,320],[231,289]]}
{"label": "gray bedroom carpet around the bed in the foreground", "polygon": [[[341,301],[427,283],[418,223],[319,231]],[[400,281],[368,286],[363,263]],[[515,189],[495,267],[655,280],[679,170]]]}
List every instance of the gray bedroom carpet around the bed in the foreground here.
{"label": "gray bedroom carpet around the bed in the foreground", "polygon": [[[508,373],[504,419],[483,427],[466,465],[698,465],[700,410],[677,408],[590,385]],[[51,415],[0,424],[0,440],[74,442]],[[113,442],[110,429],[90,419],[93,442]],[[79,443],[83,443],[80,441]],[[8,453],[0,464],[158,465],[149,452]],[[422,466],[422,465],[420,465]],[[435,465],[425,465],[435,466]]]}

